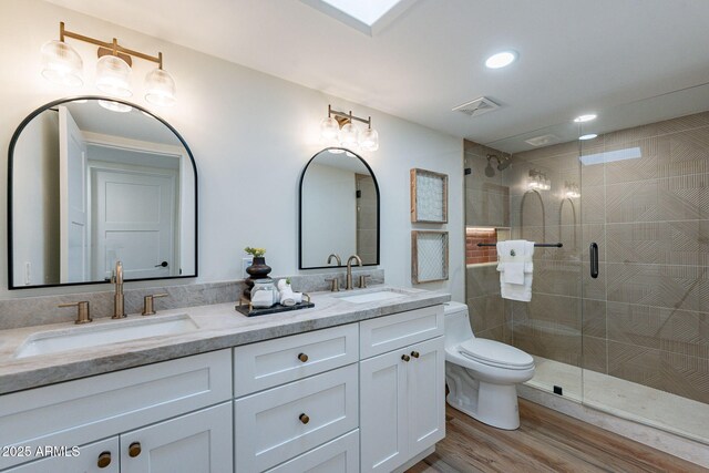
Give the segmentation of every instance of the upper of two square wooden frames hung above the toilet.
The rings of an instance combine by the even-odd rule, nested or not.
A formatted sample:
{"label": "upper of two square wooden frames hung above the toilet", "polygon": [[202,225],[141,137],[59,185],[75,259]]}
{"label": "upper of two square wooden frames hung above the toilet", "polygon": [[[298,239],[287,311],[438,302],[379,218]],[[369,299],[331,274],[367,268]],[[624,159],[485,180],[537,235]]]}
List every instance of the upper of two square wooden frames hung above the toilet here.
{"label": "upper of two square wooden frames hung above the toilet", "polygon": [[448,224],[448,174],[411,169],[411,222]]}

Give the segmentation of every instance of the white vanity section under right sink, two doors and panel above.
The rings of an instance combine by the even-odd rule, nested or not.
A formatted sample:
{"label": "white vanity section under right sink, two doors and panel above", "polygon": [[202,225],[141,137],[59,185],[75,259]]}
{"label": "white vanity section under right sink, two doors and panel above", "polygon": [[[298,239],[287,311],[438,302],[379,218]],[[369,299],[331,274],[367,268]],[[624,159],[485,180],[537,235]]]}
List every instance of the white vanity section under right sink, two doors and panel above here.
{"label": "white vanity section under right sink, two doors and panel above", "polygon": [[367,320],[360,335],[361,471],[391,472],[445,436],[443,307]]}

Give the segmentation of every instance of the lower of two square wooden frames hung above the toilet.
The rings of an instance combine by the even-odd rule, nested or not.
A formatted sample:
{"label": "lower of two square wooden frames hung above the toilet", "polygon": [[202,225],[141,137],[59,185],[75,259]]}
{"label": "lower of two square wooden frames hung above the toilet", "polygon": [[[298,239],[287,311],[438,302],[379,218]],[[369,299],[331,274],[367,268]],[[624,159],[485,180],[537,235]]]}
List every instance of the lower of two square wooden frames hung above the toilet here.
{"label": "lower of two square wooden frames hung above the toilet", "polygon": [[411,281],[448,280],[448,232],[411,232]]}

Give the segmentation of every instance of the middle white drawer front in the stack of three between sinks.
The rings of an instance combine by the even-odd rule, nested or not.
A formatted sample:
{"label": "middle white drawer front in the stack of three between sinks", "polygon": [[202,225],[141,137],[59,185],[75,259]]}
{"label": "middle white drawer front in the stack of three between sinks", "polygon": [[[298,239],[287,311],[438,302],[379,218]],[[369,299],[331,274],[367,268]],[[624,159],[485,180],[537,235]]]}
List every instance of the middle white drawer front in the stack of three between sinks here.
{"label": "middle white drawer front in the stack of three between sinks", "polygon": [[357,429],[358,378],[350,364],[236,400],[236,471],[263,472]]}

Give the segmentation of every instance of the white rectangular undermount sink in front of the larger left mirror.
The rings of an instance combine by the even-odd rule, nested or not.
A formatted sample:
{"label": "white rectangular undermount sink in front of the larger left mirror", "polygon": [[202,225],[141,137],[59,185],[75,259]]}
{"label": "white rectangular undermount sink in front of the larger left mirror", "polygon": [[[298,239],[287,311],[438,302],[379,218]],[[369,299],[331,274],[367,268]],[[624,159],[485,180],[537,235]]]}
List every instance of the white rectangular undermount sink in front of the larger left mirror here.
{"label": "white rectangular undermount sink in front of the larger left mirror", "polygon": [[187,313],[90,323],[32,333],[18,348],[14,357],[27,358],[148,337],[179,335],[198,328]]}

